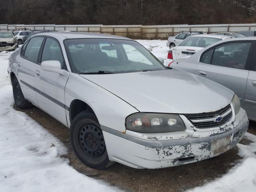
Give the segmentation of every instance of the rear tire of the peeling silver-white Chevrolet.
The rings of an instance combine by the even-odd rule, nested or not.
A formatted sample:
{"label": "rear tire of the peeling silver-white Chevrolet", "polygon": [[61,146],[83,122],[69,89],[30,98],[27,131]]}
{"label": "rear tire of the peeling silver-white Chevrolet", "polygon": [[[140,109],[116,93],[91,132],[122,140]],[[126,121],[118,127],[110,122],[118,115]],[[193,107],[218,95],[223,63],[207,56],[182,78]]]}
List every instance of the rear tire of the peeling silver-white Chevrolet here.
{"label": "rear tire of the peeling silver-white Chevrolet", "polygon": [[14,77],[12,80],[12,93],[15,104],[18,108],[26,109],[32,106],[32,104],[24,98],[24,95],[20,88],[20,83],[18,82],[16,77]]}

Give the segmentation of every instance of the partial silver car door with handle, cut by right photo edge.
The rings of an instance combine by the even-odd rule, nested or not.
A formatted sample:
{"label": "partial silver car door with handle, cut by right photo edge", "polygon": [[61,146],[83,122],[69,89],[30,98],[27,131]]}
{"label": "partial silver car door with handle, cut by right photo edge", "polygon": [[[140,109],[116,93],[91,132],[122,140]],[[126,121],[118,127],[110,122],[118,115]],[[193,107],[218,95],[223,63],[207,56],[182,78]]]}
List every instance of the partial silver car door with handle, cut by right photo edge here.
{"label": "partial silver car door with handle, cut by right photo edge", "polygon": [[[254,46],[254,53],[256,47]],[[256,120],[256,55],[253,55],[250,71],[246,84],[246,93],[244,98],[244,109],[250,119]]]}

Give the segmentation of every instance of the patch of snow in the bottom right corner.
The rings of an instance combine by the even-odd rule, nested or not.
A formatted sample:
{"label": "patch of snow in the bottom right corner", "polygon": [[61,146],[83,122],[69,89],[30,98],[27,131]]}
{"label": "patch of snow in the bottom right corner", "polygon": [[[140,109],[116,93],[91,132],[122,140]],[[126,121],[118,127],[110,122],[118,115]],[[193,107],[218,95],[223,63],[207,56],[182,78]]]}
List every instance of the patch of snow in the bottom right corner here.
{"label": "patch of snow in the bottom right corner", "polygon": [[255,192],[256,191],[256,136],[246,133],[253,142],[249,145],[237,144],[238,155],[243,159],[226,175],[202,187],[188,192]]}

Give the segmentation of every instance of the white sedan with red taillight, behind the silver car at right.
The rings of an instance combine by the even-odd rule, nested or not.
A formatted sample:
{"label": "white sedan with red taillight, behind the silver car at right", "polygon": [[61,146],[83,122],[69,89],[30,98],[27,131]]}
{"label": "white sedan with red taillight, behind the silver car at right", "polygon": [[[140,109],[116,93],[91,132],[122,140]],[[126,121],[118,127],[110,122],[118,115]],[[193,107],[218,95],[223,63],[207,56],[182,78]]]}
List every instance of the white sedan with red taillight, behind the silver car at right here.
{"label": "white sedan with red taillight, behind the silver car at right", "polygon": [[214,34],[200,34],[190,36],[186,38],[184,41],[182,41],[180,44],[178,44],[176,47],[173,47],[169,50],[165,64],[166,66],[170,66],[170,63],[172,63],[173,60],[190,57],[199,50],[215,42],[229,38],[232,37]]}

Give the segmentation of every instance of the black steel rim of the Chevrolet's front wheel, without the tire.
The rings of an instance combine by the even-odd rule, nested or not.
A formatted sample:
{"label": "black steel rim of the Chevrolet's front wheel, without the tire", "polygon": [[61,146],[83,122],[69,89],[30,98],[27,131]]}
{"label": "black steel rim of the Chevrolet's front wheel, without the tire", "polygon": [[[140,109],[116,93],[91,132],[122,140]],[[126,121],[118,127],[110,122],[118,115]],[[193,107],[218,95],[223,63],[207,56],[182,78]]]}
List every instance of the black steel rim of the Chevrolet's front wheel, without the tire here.
{"label": "black steel rim of the Chevrolet's front wheel, without the tire", "polygon": [[106,151],[102,131],[92,123],[83,123],[79,126],[78,143],[82,152],[90,158],[98,158]]}

